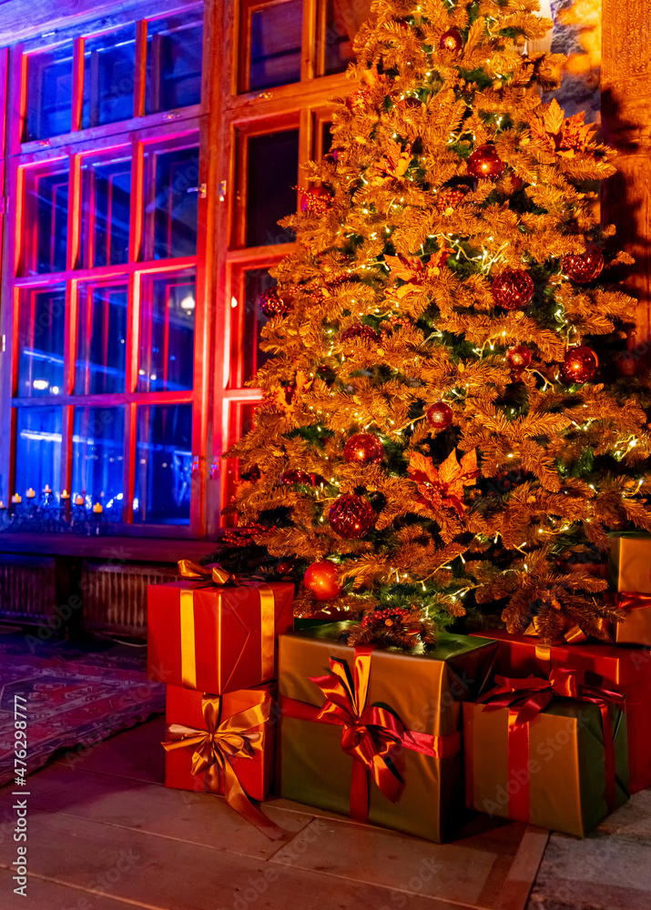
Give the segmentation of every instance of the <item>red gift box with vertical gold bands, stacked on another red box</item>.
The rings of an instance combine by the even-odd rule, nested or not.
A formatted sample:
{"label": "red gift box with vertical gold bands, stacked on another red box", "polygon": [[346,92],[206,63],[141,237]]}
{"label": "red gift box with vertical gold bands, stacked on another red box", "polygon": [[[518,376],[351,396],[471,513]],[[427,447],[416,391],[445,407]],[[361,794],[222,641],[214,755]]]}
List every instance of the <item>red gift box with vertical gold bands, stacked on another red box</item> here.
{"label": "red gift box with vertical gold bands, stacked on another red box", "polygon": [[293,584],[222,583],[229,574],[218,569],[193,567],[208,578],[147,586],[149,679],[223,694],[277,676],[277,637],[293,626]]}

